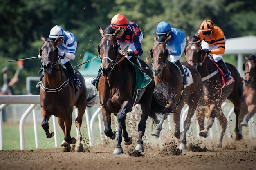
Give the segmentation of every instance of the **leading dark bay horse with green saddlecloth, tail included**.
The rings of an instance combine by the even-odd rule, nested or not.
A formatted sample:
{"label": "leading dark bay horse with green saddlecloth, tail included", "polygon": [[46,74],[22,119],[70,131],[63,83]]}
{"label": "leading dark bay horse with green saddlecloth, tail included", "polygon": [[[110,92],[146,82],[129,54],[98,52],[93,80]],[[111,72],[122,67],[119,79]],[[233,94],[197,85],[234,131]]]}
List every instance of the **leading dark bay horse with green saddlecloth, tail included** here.
{"label": "leading dark bay horse with green saddlecloth, tail included", "polygon": [[[117,143],[113,154],[122,154],[122,136],[124,144],[130,145],[132,137],[126,130],[126,114],[132,110],[135,104],[141,105],[141,120],[138,124],[138,141],[135,147],[137,151],[144,151],[142,137],[146,129],[148,116],[157,121],[157,114],[168,114],[174,108],[174,103],[168,95],[166,88],[155,86],[153,73],[143,60],[139,59],[145,73],[149,76],[149,82],[136,91],[136,72],[131,62],[119,53],[117,43],[118,28],[106,29],[106,33],[100,28],[101,41],[98,52],[101,59],[101,76],[99,77],[99,100],[102,106],[102,115],[105,125],[105,135],[115,139],[115,133],[111,129],[111,113],[117,116],[118,134]],[[144,79],[143,79],[144,80]],[[144,81],[143,81],[144,82]],[[135,91],[135,93],[134,93]]]}

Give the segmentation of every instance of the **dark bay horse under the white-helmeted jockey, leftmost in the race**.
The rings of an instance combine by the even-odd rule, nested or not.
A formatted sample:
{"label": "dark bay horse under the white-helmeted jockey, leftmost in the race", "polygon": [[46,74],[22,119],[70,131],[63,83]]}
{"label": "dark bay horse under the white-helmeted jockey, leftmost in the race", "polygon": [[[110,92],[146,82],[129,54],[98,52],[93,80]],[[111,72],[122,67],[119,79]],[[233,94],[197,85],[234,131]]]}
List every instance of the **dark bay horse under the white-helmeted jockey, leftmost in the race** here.
{"label": "dark bay horse under the white-helmeted jockey, leftmost in the race", "polygon": [[[86,106],[90,107],[94,104],[96,95],[88,95],[85,80],[77,70],[76,73],[80,79],[81,88],[75,94],[74,87],[70,83],[71,79],[64,73],[65,68],[58,63],[60,60],[56,46],[58,39],[51,41],[42,37],[43,46],[40,48],[40,55],[44,77],[40,87],[40,105],[43,117],[41,125],[45,130],[46,137],[51,138],[54,136],[54,132],[49,130],[48,121],[51,115],[58,117],[58,124],[64,133],[61,146],[65,148],[65,152],[70,151],[70,144],[75,144],[76,140],[76,152],[83,152],[80,127]],[[78,132],[76,139],[70,136],[74,106],[78,108],[78,116],[75,121]]]}

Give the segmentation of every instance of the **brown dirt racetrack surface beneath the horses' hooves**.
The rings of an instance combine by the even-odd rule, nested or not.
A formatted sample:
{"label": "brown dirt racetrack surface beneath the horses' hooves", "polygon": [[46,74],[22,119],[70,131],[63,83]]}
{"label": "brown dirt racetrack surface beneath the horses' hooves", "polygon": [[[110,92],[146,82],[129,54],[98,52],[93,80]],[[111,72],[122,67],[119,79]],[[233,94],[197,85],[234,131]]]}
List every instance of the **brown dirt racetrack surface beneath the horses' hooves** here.
{"label": "brown dirt racetrack surface beneath the horses' hooves", "polygon": [[[256,150],[220,149],[206,152],[182,150],[164,155],[162,146],[145,147],[143,156],[113,155],[114,146],[97,146],[77,153],[63,149],[1,150],[0,170],[256,170]],[[90,151],[90,152],[88,152]]]}

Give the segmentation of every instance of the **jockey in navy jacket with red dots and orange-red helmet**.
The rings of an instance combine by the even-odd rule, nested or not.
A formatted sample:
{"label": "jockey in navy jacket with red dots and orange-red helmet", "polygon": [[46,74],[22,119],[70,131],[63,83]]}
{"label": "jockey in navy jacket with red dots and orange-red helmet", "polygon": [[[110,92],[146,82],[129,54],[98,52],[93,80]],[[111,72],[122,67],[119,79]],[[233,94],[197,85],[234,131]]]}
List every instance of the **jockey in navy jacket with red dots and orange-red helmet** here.
{"label": "jockey in navy jacket with red dots and orange-red helmet", "polygon": [[[119,13],[111,19],[110,27],[115,30],[121,27],[120,32],[117,34],[117,42],[121,48],[119,53],[136,64],[144,74],[145,81],[148,81],[148,76],[144,73],[140,62],[137,59],[137,56],[141,56],[143,53],[141,47],[143,34],[139,26],[132,21],[128,21],[124,15]],[[127,51],[125,51],[126,47],[128,47]],[[92,79],[91,83],[93,85],[95,85],[100,73],[101,72],[99,71],[97,77]]]}

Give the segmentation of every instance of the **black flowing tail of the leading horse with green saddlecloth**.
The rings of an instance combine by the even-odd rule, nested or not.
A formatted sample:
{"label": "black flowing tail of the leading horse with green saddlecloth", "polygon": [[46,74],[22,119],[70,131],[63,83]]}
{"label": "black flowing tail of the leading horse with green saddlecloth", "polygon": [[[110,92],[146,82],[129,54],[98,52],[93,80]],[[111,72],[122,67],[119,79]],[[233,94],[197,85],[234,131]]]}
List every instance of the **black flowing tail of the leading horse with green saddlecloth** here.
{"label": "black flowing tail of the leading horse with green saddlecloth", "polygon": [[153,91],[150,117],[157,119],[157,115],[168,115],[173,112],[175,102],[172,101],[173,95],[169,95],[164,84],[156,84]]}

